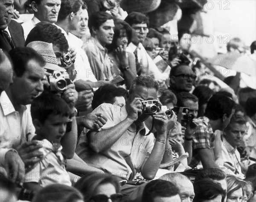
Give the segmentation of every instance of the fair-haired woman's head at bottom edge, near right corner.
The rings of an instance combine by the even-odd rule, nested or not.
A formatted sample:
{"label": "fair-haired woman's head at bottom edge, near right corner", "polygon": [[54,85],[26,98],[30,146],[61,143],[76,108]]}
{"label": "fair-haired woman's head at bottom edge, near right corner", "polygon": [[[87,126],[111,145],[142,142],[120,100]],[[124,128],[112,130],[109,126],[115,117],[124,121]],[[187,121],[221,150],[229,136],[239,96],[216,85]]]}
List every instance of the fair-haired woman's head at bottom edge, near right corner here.
{"label": "fair-haired woman's head at bottom edge, near right corner", "polygon": [[246,184],[245,181],[237,178],[234,175],[227,175],[226,176],[227,181],[227,202],[241,202],[244,193],[243,193],[243,187]]}

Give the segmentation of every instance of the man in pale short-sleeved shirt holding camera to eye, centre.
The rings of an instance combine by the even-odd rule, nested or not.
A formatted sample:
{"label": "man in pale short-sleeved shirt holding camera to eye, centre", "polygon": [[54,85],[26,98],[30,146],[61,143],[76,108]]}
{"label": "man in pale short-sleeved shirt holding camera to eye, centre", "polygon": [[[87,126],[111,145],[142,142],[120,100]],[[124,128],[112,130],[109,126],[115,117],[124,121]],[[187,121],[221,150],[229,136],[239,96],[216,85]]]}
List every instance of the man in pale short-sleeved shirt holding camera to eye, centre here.
{"label": "man in pale short-sleeved shirt holding camera to eye, centre", "polygon": [[[168,118],[165,112],[158,108],[151,114],[157,131],[155,142],[153,134],[148,135],[144,125],[149,117],[143,113],[145,101],[156,100],[158,88],[158,83],[151,77],[136,77],[126,105],[102,104],[93,111],[102,112],[108,121],[98,131],[87,134],[89,146],[94,151],[87,159],[89,165],[118,179],[132,180],[137,172],[145,179],[154,179],[160,163],[172,160],[172,151],[166,141]],[[176,122],[176,115],[171,119]]]}

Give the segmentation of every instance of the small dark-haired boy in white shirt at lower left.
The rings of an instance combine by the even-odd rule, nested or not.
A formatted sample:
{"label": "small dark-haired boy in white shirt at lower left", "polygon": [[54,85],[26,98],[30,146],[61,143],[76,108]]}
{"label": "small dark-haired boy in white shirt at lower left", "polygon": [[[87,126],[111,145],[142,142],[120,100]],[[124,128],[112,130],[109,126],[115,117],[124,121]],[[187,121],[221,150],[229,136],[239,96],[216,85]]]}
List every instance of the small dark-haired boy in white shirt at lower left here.
{"label": "small dark-haired boy in white shirt at lower left", "polygon": [[50,93],[41,94],[31,105],[31,116],[35,126],[40,151],[44,156],[26,174],[24,187],[39,191],[49,184],[71,186],[65,169],[65,158],[61,154],[61,138],[66,132],[70,108],[60,97]]}

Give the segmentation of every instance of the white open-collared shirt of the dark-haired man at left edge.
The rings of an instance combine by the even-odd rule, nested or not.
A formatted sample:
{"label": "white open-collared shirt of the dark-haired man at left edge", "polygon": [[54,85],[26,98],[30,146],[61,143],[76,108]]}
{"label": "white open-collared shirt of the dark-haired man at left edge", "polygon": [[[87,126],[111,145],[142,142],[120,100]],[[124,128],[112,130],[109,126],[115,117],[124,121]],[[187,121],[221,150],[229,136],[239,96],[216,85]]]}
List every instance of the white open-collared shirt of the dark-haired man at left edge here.
{"label": "white open-collared shirt of the dark-haired man at left edge", "polygon": [[34,136],[35,128],[30,105],[21,105],[16,111],[5,91],[0,95],[0,104],[0,163],[4,166],[6,152],[12,146],[24,144],[27,134]]}

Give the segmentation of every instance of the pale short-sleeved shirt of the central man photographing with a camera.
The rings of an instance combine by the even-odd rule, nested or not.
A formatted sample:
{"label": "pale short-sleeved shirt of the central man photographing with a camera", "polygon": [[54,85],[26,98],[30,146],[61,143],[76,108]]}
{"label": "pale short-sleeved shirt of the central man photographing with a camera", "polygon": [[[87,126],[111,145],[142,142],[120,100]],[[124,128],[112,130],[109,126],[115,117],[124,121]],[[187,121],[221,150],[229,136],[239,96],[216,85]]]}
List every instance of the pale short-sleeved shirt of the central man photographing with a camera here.
{"label": "pale short-sleeved shirt of the central man photographing with a camera", "polygon": [[[96,112],[102,113],[108,119],[99,131],[113,128],[127,117],[125,105],[121,108],[117,105],[104,103],[93,111],[93,113]],[[111,139],[101,140],[102,144],[113,144],[107,150],[98,154],[91,151],[89,155],[81,156],[81,158],[88,165],[109,174],[122,179],[132,179],[136,172],[140,172],[143,162],[148,159],[154,147],[154,135],[145,136],[147,130],[144,123],[141,123],[137,131],[135,124],[132,124],[119,139],[114,139],[116,142],[111,142]]]}

